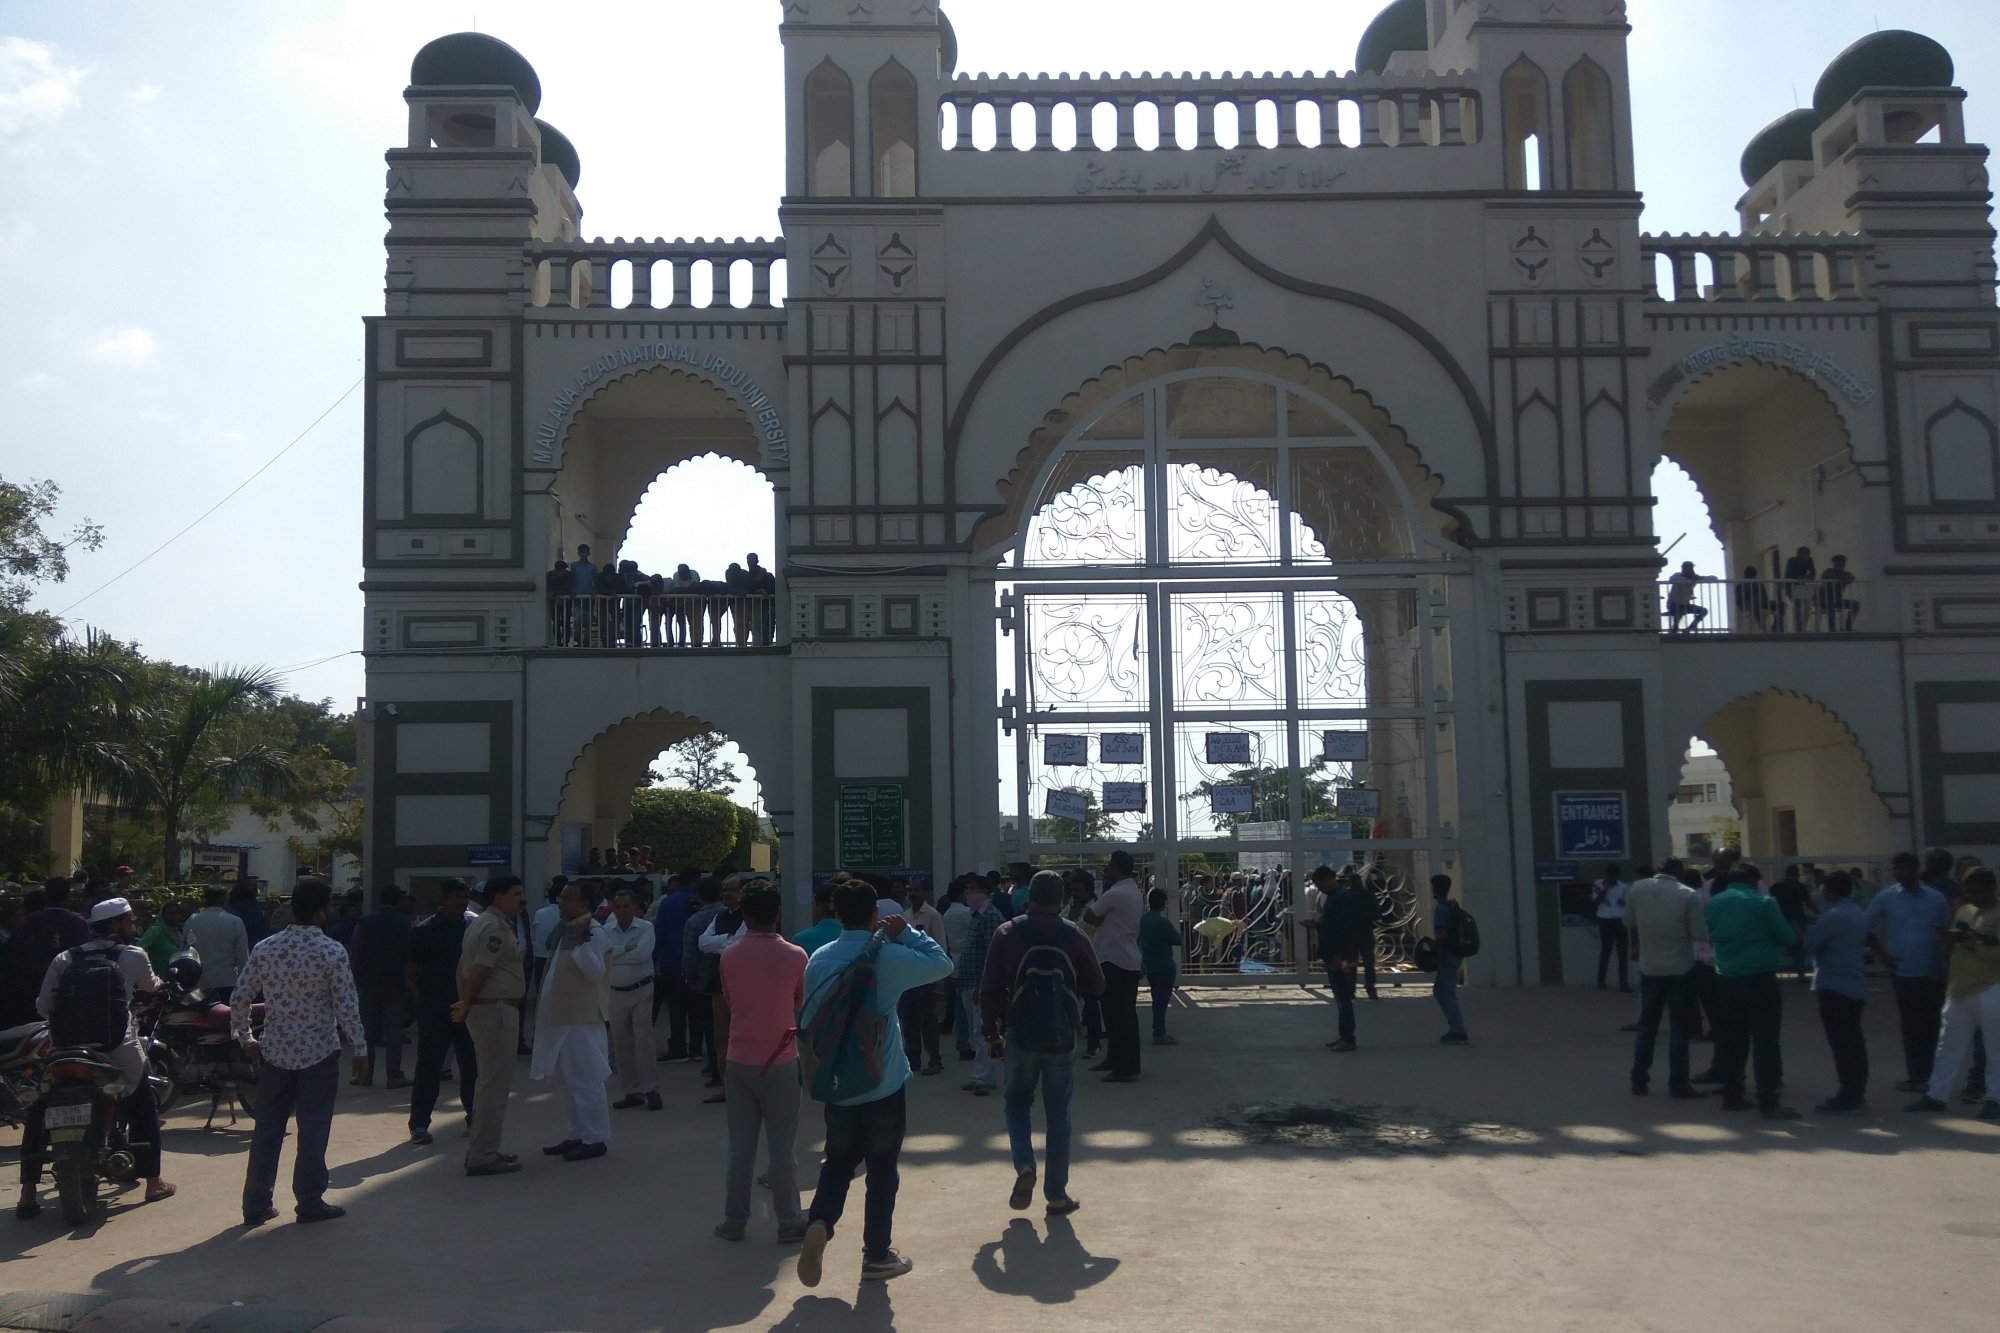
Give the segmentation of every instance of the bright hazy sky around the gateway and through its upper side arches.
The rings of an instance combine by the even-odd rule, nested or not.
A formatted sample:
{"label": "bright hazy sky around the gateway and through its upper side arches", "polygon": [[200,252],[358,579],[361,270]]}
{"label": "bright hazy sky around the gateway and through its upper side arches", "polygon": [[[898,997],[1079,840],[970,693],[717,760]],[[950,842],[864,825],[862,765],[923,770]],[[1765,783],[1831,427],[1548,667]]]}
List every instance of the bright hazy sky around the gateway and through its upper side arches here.
{"label": "bright hazy sky around the gateway and through its upper side arches", "polygon": [[[972,72],[1344,70],[1376,8],[948,4]],[[534,62],[544,118],[582,154],[586,234],[758,236],[776,232],[782,188],[778,12],[776,0],[0,6],[0,474],[54,478],[64,520],[106,528],[42,604],[158,656],[278,666],[292,691],[352,707],[362,462],[348,390],[360,318],[382,308],[382,152],[402,140],[410,56],[476,26]],[[1826,60],[1878,14],[1952,50],[1968,132],[1990,140],[1990,2],[1634,0],[1646,230],[1734,230],[1744,142],[1810,100]],[[212,518],[96,592],[322,412]],[[676,484],[678,512],[706,524],[636,532],[636,558],[720,572],[744,550],[768,554],[768,508],[754,508],[768,490],[748,470]],[[1718,568],[1692,488],[1674,496],[1664,540],[1694,528],[1674,558]]]}

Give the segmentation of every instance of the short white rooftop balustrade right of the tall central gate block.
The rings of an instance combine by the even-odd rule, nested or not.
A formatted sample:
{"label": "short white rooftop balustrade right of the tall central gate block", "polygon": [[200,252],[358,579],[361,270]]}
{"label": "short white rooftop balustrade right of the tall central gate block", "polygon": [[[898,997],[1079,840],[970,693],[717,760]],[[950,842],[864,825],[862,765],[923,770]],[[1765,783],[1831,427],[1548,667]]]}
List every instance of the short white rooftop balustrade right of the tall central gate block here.
{"label": "short white rooftop balustrade right of the tall central gate block", "polygon": [[[1658,256],[1672,276],[1650,284],[1656,300],[1862,300],[1868,296],[1866,236],[1750,234],[1640,236],[1642,272],[1656,274]],[[1696,260],[1708,258],[1714,282],[1702,284]]]}

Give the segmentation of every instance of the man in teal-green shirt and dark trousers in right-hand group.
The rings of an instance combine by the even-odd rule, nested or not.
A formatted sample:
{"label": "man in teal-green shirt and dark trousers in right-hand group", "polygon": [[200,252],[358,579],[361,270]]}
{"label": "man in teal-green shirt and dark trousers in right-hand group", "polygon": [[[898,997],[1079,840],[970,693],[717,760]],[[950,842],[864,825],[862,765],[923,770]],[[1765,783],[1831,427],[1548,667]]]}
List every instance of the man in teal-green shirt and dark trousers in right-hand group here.
{"label": "man in teal-green shirt and dark trousers in right-hand group", "polygon": [[1798,1111],[1778,1103],[1784,1083],[1778,967],[1796,937],[1778,903],[1756,891],[1758,879],[1754,865],[1736,865],[1728,887],[1702,909],[1716,951],[1716,1073],[1722,1075],[1724,1111],[1750,1109],[1744,1065],[1754,1063],[1756,1109],[1766,1121],[1796,1121]]}

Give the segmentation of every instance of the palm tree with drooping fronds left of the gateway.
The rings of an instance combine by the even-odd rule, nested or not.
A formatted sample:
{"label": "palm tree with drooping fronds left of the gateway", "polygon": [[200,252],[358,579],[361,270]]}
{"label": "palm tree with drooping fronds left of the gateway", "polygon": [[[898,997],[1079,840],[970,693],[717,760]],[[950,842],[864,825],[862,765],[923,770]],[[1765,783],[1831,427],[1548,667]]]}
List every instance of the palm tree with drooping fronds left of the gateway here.
{"label": "palm tree with drooping fronds left of the gateway", "polygon": [[162,825],[164,879],[180,877],[192,819],[248,793],[284,797],[298,783],[296,757],[244,739],[242,723],[278,697],[278,677],[254,671],[152,673],[136,727],[120,743],[118,795]]}

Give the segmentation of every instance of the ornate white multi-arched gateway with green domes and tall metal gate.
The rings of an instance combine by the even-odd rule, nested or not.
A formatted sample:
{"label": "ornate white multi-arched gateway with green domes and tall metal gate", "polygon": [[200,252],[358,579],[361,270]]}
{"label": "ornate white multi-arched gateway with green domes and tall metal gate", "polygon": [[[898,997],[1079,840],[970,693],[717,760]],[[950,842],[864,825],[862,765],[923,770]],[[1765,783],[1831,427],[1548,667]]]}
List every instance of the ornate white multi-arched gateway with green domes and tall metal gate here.
{"label": "ornate white multi-arched gateway with green domes and tall metal gate", "polygon": [[[1490,983],[1580,977],[1568,853],[1684,851],[1696,733],[1756,859],[2000,853],[1986,150],[1934,42],[1758,134],[1740,234],[1648,236],[1622,4],[1398,0],[1346,74],[972,76],[924,0],[780,32],[776,240],[584,240],[526,58],[416,58],[372,881],[574,869],[708,729],[794,903],[1112,847],[1444,873]],[[768,576],[552,570],[702,454],[772,482]],[[1670,582],[1662,456],[1728,568]],[[1210,961],[1310,951],[1284,891],[1212,905]]]}

